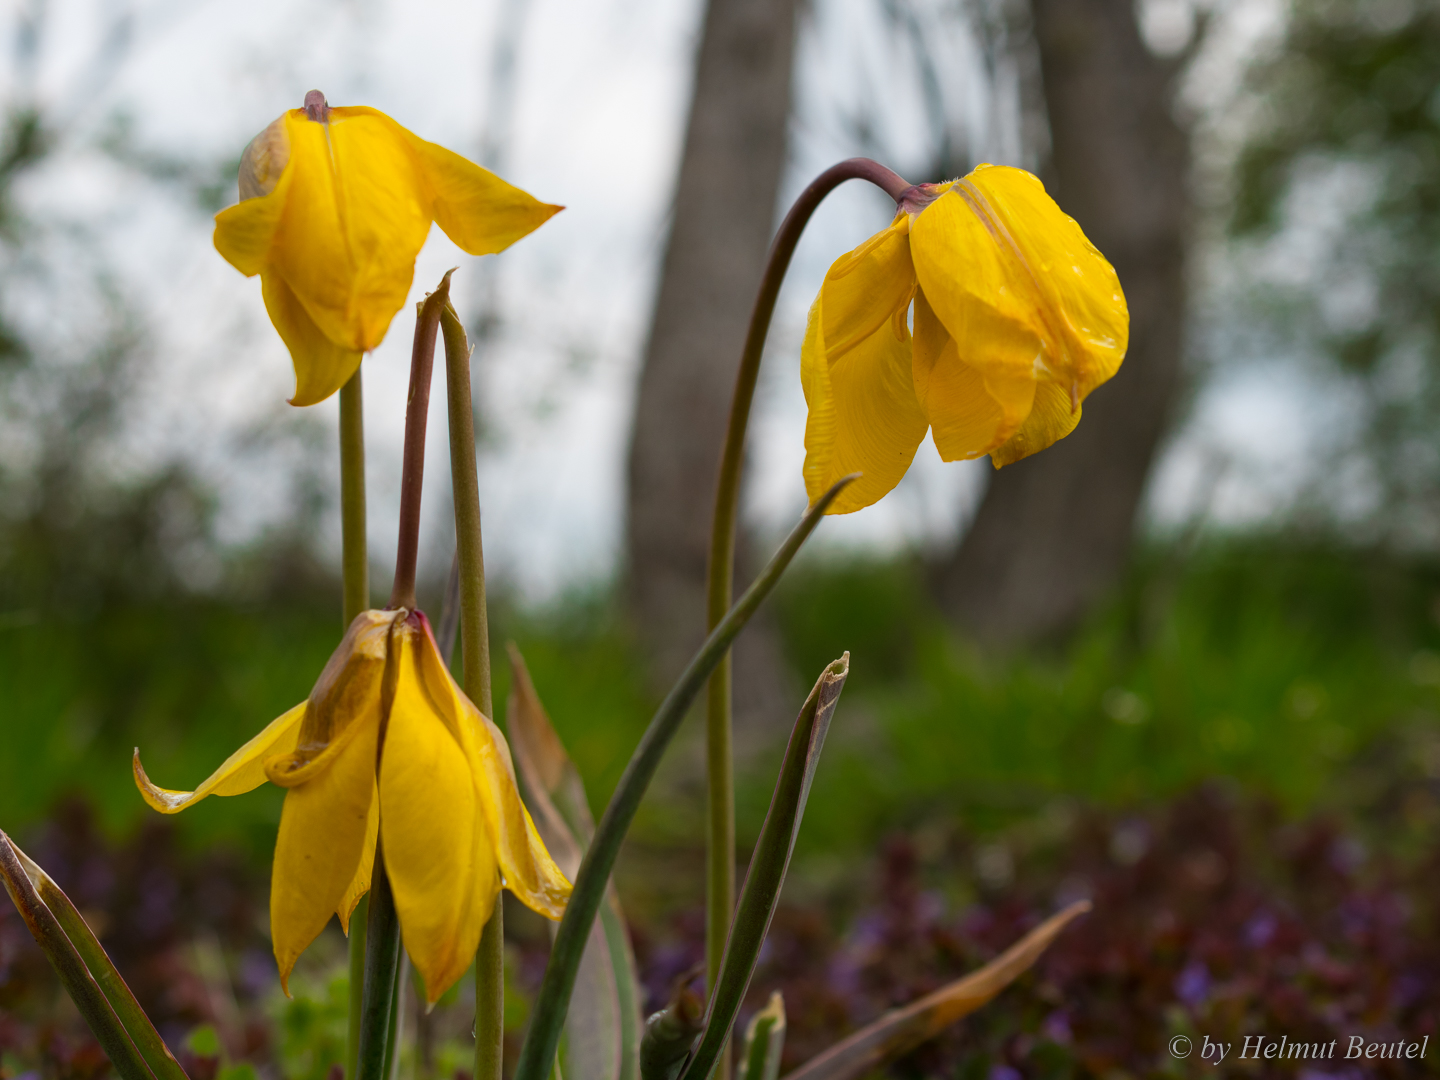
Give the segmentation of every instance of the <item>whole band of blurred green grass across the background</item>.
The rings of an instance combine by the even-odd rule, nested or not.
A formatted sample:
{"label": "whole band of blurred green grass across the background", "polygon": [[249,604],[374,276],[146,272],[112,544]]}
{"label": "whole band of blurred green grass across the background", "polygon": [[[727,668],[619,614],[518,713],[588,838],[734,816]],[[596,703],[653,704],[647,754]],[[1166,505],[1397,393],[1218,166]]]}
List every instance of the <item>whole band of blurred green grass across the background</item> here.
{"label": "whole band of blurred green grass across the background", "polygon": [[[844,649],[852,674],[802,851],[845,854],[955,815],[1002,827],[1056,798],[1149,802],[1215,776],[1300,812],[1354,795],[1377,746],[1403,749],[1387,769],[1440,775],[1437,596],[1426,562],[1287,537],[1156,546],[1068,642],[996,658],[946,628],[917,563],[812,557],[772,612],[795,706]],[[514,638],[603,806],[654,707],[615,605],[500,606],[494,622],[497,710],[498,644]],[[156,782],[192,786],[304,698],[338,635],[321,608],[213,600],[0,626],[0,827],[82,791],[107,828],[127,829],[148,812],[132,746]],[[772,778],[765,760],[742,773],[742,841]],[[180,824],[193,842],[268,858],[281,796],[210,799]]]}

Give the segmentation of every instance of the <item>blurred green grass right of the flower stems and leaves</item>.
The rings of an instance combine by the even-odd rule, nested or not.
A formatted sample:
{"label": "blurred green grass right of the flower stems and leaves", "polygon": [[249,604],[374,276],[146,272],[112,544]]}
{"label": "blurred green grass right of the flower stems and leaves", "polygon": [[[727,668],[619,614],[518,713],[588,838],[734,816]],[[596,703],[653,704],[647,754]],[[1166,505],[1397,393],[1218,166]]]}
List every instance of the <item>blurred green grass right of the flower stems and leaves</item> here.
{"label": "blurred green grass right of the flower stems and leaves", "polygon": [[782,603],[792,662],[818,672],[850,648],[852,674],[802,845],[1215,778],[1292,814],[1358,812],[1362,766],[1440,775],[1437,596],[1430,563],[1286,537],[1158,547],[1067,645],[996,660],[940,624],[920,567],[812,566]]}

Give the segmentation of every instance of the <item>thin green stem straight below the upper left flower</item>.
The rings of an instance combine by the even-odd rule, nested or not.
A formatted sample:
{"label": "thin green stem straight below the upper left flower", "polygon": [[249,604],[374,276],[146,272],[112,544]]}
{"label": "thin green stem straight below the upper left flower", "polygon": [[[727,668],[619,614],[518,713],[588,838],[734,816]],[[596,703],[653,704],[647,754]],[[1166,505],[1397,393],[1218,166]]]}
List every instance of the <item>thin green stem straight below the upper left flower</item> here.
{"label": "thin green stem straight below the upper left flower", "polygon": [[[370,553],[364,513],[364,392],[360,369],[340,387],[340,536],[343,608],[348,626],[370,606]],[[360,991],[364,981],[366,901],[350,917],[350,1031],[346,1040],[346,1076],[354,1080],[360,1053]]]}

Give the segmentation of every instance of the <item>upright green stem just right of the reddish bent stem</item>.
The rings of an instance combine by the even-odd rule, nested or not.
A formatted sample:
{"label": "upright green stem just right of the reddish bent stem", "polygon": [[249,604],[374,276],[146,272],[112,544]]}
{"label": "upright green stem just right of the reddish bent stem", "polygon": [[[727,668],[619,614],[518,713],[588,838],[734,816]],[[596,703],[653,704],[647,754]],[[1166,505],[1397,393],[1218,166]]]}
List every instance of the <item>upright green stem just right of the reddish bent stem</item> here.
{"label": "upright green stem just right of the reddish bent stem", "polygon": [[[485,552],[480,533],[480,477],[475,469],[475,406],[469,386],[469,343],[459,315],[446,300],[441,311],[445,336],[445,387],[449,405],[451,481],[455,491],[455,554],[459,563],[461,657],[465,693],[480,711],[494,717],[490,687],[490,621],[485,613]],[[504,904],[495,907],[475,955],[475,1080],[500,1080],[505,1037]]]}

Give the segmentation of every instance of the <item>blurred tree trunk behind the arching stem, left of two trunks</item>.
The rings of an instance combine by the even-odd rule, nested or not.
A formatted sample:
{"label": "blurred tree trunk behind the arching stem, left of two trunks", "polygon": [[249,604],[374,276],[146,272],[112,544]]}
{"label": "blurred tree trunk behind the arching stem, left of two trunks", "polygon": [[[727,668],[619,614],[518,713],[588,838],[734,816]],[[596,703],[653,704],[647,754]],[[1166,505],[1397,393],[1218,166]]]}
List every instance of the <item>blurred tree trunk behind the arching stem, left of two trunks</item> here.
{"label": "blurred tree trunk behind the arching stem, left of two trunks", "polygon": [[[710,0],[696,63],[626,507],[631,611],[667,683],[704,636],[716,474],[785,168],[796,7]],[[737,707],[744,684],[737,671]]]}

